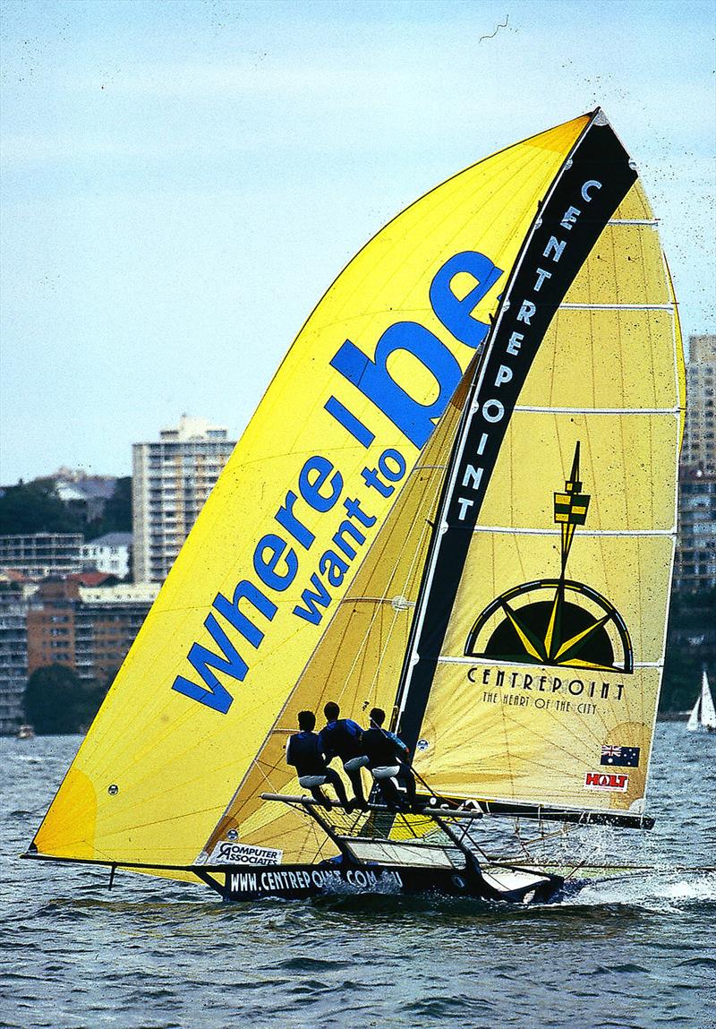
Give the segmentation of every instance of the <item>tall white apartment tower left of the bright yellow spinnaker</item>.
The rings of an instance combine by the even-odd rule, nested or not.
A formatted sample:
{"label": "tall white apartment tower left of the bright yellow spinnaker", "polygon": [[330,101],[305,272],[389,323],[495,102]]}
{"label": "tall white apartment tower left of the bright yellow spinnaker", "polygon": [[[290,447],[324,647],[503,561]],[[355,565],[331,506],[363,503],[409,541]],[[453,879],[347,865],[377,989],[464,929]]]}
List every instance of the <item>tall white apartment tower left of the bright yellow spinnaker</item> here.
{"label": "tall white apartment tower left of the bright yellow spinnaker", "polygon": [[135,582],[167,577],[235,446],[226,429],[185,415],[157,442],[134,445]]}

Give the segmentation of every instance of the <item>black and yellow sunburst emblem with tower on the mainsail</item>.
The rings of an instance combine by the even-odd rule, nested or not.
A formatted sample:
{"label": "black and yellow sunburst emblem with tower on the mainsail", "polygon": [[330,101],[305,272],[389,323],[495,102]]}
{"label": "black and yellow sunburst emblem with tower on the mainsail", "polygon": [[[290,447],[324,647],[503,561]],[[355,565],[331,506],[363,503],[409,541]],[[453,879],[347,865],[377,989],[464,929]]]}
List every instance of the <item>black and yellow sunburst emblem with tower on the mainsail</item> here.
{"label": "black and yellow sunburst emblem with tower on the mainsail", "polygon": [[515,664],[632,672],[634,655],[624,620],[606,597],[567,578],[576,530],[586,523],[590,497],[579,478],[579,443],[564,492],[554,493],[562,529],[559,578],[507,590],[489,604],[467,637],[465,655]]}

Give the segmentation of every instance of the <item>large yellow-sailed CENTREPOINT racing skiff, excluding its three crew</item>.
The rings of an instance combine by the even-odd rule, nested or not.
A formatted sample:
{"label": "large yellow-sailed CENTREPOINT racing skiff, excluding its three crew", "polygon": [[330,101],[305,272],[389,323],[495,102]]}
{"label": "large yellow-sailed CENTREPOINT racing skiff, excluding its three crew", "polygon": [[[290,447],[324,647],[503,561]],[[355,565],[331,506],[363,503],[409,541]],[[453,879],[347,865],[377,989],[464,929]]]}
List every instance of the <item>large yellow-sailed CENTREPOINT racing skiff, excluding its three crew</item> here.
{"label": "large yellow-sailed CENTREPOINT racing skiff, excluding its three crew", "polygon": [[[653,824],[683,380],[601,109],[426,193],[309,317],[26,856],[231,900],[559,896],[576,865],[485,826]],[[389,712],[423,811],[305,794],[286,743],[327,701]]]}

